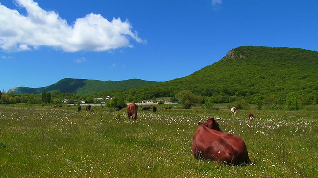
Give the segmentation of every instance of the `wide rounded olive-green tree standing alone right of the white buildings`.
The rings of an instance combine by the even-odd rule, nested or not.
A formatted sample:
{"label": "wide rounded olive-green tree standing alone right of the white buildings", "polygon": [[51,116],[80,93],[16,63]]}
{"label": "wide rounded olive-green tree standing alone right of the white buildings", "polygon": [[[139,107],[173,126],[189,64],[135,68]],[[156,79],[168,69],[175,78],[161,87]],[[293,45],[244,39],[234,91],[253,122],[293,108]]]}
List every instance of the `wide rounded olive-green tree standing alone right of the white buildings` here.
{"label": "wide rounded olive-green tree standing alone right of the white buildings", "polygon": [[193,94],[190,90],[184,90],[175,95],[185,109],[190,109],[191,106],[201,103],[202,98]]}

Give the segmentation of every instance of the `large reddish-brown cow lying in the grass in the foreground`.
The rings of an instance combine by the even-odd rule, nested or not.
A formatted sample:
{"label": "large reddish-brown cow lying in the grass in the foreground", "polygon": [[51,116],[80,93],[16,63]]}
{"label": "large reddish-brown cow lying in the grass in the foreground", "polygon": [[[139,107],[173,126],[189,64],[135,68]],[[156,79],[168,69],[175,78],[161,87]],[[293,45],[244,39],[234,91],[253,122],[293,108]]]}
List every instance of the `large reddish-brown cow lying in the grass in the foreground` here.
{"label": "large reddish-brown cow lying in the grass in the foreground", "polygon": [[209,118],[205,123],[199,122],[193,136],[194,157],[231,165],[249,164],[245,142],[240,136],[223,133],[216,120],[219,119]]}

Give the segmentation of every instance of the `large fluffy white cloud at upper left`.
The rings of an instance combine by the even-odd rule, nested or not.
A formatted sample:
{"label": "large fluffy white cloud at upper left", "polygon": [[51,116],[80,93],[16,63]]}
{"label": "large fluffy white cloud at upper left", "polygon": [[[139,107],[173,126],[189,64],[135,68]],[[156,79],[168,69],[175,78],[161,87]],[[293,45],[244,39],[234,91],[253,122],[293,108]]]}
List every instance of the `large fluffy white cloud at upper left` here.
{"label": "large fluffy white cloud at upper left", "polygon": [[90,13],[69,25],[57,12],[45,11],[33,0],[15,0],[27,15],[0,3],[0,48],[26,51],[48,46],[66,52],[107,51],[132,47],[130,41],[145,42],[132,31],[132,25],[120,18],[108,21]]}

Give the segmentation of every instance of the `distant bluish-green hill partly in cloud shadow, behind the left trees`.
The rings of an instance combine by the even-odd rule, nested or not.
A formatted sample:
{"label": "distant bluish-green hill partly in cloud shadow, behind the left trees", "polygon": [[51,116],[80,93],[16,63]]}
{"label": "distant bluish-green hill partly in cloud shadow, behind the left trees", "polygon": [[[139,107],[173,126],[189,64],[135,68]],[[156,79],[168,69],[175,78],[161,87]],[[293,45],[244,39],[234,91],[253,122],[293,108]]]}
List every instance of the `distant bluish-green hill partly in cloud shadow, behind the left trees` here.
{"label": "distant bluish-green hill partly in cloud shadow, behind the left trees", "polygon": [[71,79],[65,78],[47,87],[41,88],[28,88],[28,87],[15,87],[9,89],[8,92],[15,94],[34,93],[40,94],[42,92],[62,92],[74,93],[78,95],[90,95],[93,93],[118,90],[118,89],[133,89],[141,86],[157,84],[161,82],[144,81],[140,79],[129,79],[124,81],[100,81],[88,79]]}

